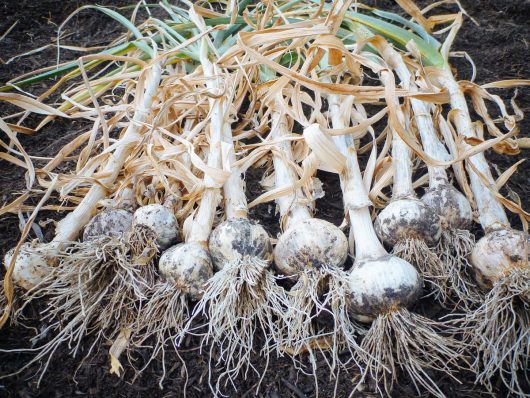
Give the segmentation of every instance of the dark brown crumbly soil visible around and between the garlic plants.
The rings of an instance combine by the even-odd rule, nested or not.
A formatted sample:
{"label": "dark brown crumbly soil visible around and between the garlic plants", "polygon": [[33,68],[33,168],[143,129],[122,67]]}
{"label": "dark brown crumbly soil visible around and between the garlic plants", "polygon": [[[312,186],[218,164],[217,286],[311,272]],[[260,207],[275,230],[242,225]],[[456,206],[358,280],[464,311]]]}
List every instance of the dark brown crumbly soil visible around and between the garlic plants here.
{"label": "dark brown crumbly soil visible around and between the garlic plants", "polygon": [[[0,0],[0,36],[8,30],[13,23],[17,24],[2,40],[0,40],[0,83],[3,84],[11,78],[22,73],[53,65],[56,61],[55,48],[48,48],[36,54],[17,58],[5,64],[11,57],[29,50],[53,43],[58,25],[76,8],[93,3],[87,0],[61,1],[61,0]],[[120,6],[131,4],[126,0],[99,0],[97,4]],[[391,1],[368,1],[378,7],[396,8]],[[422,2],[425,4],[426,2]],[[453,48],[467,51],[477,65],[477,82],[483,83],[500,79],[517,79],[530,77],[528,63],[530,46],[530,1],[528,0],[461,0],[468,13],[480,23],[476,26],[469,19],[466,20]],[[65,32],[69,35],[63,43],[75,43],[79,46],[96,46],[106,43],[109,38],[115,37],[120,30],[107,17],[95,12],[84,11],[73,18],[67,25]],[[62,50],[61,59],[74,59],[79,56],[69,50]],[[456,60],[460,78],[468,79],[471,76],[469,64]],[[42,92],[47,83],[39,83],[31,87],[33,93]],[[513,95],[513,90],[499,92],[503,96]],[[530,90],[521,89],[518,92],[517,103],[525,113],[530,112]],[[14,108],[0,105],[0,115],[5,116],[13,112]],[[29,123],[36,123],[37,118],[30,118]],[[29,153],[36,156],[49,156],[58,148],[68,142],[75,134],[82,131],[84,126],[78,122],[57,120],[49,124],[44,130],[34,136],[21,137],[22,144]],[[520,123],[521,136],[528,136],[530,121],[525,119]],[[488,159],[498,166],[499,170],[506,170],[519,159],[527,158],[528,150],[522,151],[514,157],[498,156],[489,153]],[[317,201],[317,217],[329,220],[335,224],[342,221],[342,198],[336,176],[321,173],[320,179],[324,184],[326,196]],[[510,179],[509,187],[515,191],[523,202],[523,207],[530,206],[530,169],[523,164],[519,171]],[[250,195],[255,197],[261,192],[261,187],[255,175],[248,176]],[[0,161],[0,202],[6,203],[14,198],[14,194],[24,188],[24,172],[5,161]],[[507,192],[504,190],[504,192]],[[51,213],[42,213],[41,218],[57,218]],[[273,235],[279,232],[278,220],[274,215],[273,206],[262,205],[255,208],[252,217],[259,219]],[[520,227],[517,217],[511,216],[516,227]],[[44,229],[45,234],[50,234],[51,227]],[[17,215],[4,215],[0,219],[0,254],[13,247],[20,236],[19,219]],[[417,311],[436,316],[443,313],[443,309],[433,304],[430,300],[423,300],[418,304]],[[0,330],[0,349],[8,350],[30,347],[30,339],[35,335],[35,329],[42,327],[39,319],[39,307],[32,306],[27,311],[27,321],[24,326],[6,326]],[[35,329],[34,329],[35,328]],[[90,341],[84,349],[88,349]],[[90,359],[80,364],[79,357],[72,358],[67,347],[61,347],[53,357],[47,373],[44,375],[40,386],[37,385],[38,367],[32,367],[17,376],[0,379],[0,397],[63,397],[63,396],[123,396],[123,397],[169,397],[211,396],[208,383],[207,348],[201,354],[198,341],[189,339],[186,346],[180,351],[183,363],[176,355],[169,352],[166,357],[167,374],[163,389],[159,387],[161,374],[160,362],[148,367],[134,382],[131,367],[126,366],[121,377],[110,375],[108,372],[108,347],[102,347],[98,352],[90,355]],[[168,350],[169,351],[169,350]],[[147,352],[147,350],[146,350]],[[141,364],[144,352],[140,350],[135,357],[135,365]],[[0,375],[16,371],[31,358],[31,353],[6,353],[0,352]],[[306,358],[300,358],[304,363]],[[306,361],[307,362],[307,361]],[[256,355],[254,361],[263,369],[262,360]],[[348,396],[353,387],[352,379],[355,374],[343,373],[339,379],[330,378],[325,371],[325,364],[317,366],[316,379],[320,397],[329,397],[336,393],[337,396]],[[315,378],[297,370],[292,359],[284,357],[271,360],[268,371],[263,380],[256,373],[249,372],[246,380],[237,380],[236,385],[228,385],[224,391],[228,396],[266,396],[266,397],[312,397],[316,394]],[[450,397],[457,396],[483,396],[485,393],[479,386],[473,384],[469,374],[457,375],[461,384],[454,382],[449,377],[437,377],[440,388]],[[215,383],[215,372],[213,382]],[[259,392],[256,393],[260,384]],[[497,383],[498,396],[506,396],[507,392]],[[365,386],[365,392],[355,393],[354,396],[373,396],[368,391],[370,385]],[[406,382],[395,391],[395,396],[413,396],[414,388]]]}

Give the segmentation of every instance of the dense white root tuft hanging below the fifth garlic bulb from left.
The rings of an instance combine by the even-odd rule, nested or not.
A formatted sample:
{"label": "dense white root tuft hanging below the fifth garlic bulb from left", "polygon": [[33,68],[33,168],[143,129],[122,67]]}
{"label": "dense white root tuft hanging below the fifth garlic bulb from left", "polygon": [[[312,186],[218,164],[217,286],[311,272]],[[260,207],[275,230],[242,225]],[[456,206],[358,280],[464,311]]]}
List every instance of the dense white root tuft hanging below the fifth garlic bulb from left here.
{"label": "dense white root tuft hanging below the fifth garlic bulb from left", "polygon": [[[241,371],[246,377],[249,369],[260,377],[265,375],[272,347],[285,327],[281,317],[286,303],[286,292],[270,271],[270,262],[256,256],[225,263],[210,278],[194,314],[205,313],[209,319],[202,344],[212,342],[219,349],[218,363],[223,362],[225,370],[218,384],[224,378],[233,383]],[[261,347],[265,369],[261,372],[251,363],[260,330],[265,337]]]}

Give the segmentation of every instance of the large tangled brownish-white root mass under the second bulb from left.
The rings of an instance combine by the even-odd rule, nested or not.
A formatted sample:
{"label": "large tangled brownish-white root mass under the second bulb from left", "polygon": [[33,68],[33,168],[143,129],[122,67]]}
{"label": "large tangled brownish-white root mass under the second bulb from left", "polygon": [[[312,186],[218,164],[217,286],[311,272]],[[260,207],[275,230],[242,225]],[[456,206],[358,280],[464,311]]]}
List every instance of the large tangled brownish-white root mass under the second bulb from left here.
{"label": "large tangled brownish-white root mass under the second bulb from left", "polygon": [[11,375],[44,360],[39,370],[40,384],[55,351],[63,343],[67,343],[75,357],[84,337],[94,336],[93,344],[82,359],[84,362],[102,339],[112,341],[128,327],[136,316],[138,303],[146,299],[145,294],[155,278],[151,264],[131,265],[126,260],[128,251],[122,241],[103,237],[88,243],[72,242],[65,251],[54,252],[59,263],[39,285],[26,293],[24,305],[42,298],[48,302],[42,320],[47,320],[49,326],[34,337],[34,341],[46,339],[50,332],[57,334],[40,347],[15,350],[36,355]]}

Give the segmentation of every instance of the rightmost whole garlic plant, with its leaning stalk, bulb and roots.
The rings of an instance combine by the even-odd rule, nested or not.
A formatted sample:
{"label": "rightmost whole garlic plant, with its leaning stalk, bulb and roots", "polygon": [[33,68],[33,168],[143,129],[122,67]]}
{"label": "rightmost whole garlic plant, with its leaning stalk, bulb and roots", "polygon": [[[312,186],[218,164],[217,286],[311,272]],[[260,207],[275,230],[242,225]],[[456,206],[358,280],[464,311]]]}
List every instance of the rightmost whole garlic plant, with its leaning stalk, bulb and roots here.
{"label": "rightmost whole garlic plant, with its leaning stalk, bulb and roots", "polygon": [[[440,71],[437,81],[449,92],[458,134],[478,138],[465,96],[452,73],[448,69]],[[495,196],[497,188],[484,154],[469,157],[466,166],[486,234],[475,244],[470,257],[475,279],[487,291],[482,305],[464,320],[478,354],[473,367],[477,381],[490,391],[490,380],[498,373],[511,393],[525,396],[525,381],[518,374],[528,368],[530,358],[530,237],[510,227]]]}

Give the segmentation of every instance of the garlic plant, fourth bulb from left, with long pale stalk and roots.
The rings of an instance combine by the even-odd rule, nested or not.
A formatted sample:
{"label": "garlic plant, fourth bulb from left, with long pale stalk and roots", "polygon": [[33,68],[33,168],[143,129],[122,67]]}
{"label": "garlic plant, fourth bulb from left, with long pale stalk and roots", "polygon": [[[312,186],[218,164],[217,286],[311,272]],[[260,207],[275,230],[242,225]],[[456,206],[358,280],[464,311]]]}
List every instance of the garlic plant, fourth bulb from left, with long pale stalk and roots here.
{"label": "garlic plant, fourth bulb from left, with long pale stalk and roots", "polygon": [[[167,341],[171,341],[176,348],[191,329],[194,318],[188,301],[203,298],[207,282],[214,271],[208,240],[221,201],[219,181],[225,178],[221,170],[221,144],[227,117],[227,101],[226,95],[220,92],[219,77],[214,73],[214,65],[208,59],[208,42],[205,37],[200,43],[200,61],[203,70],[197,78],[202,76],[212,94],[208,96],[209,124],[206,125],[209,133],[209,170],[204,173],[204,190],[199,208],[188,219],[188,228],[184,228],[185,241],[170,247],[160,256],[158,269],[162,278],[150,290],[149,300],[133,324],[136,333],[132,336],[132,341],[135,346],[141,345],[150,336],[154,337],[155,348],[150,360],[159,351],[164,352]],[[165,364],[160,383],[164,377]]]}

